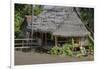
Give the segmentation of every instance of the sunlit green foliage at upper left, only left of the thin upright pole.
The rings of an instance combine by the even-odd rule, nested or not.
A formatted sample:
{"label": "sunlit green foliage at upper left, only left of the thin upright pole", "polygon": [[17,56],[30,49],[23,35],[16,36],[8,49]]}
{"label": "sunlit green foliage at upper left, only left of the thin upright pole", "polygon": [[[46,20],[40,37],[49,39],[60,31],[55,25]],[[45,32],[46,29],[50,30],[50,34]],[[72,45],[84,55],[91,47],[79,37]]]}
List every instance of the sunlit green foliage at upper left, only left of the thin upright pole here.
{"label": "sunlit green foliage at upper left, only left of the thin upright pole", "polygon": [[21,25],[24,21],[25,15],[32,15],[32,5],[28,4],[15,4],[15,23],[14,23],[14,32],[15,37],[19,37],[20,32],[22,31]]}

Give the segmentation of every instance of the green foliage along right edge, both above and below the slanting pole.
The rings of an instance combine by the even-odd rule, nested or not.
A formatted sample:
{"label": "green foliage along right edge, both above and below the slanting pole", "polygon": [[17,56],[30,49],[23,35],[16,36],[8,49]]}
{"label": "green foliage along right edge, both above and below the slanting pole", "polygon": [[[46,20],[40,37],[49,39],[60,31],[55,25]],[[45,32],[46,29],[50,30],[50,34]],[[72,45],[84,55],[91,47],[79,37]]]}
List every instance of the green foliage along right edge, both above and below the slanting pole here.
{"label": "green foliage along right edge, both above and below the slanting pole", "polygon": [[85,26],[91,33],[89,35],[89,50],[94,51],[94,43],[91,36],[94,38],[94,9],[93,8],[80,8],[81,19],[86,23]]}

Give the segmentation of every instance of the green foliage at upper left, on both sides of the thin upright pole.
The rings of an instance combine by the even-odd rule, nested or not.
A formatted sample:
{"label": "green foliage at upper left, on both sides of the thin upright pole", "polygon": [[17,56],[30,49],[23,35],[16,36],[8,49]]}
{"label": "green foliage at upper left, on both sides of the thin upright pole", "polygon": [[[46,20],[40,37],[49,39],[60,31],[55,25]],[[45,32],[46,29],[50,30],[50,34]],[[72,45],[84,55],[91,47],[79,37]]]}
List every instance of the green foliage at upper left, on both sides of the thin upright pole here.
{"label": "green foliage at upper left, on both sides of the thin upright pole", "polygon": [[42,8],[40,5],[32,8],[32,5],[29,4],[15,4],[15,37],[20,37],[20,33],[22,32],[22,25],[24,21],[25,15],[32,15],[32,10],[34,15],[39,15],[42,12]]}

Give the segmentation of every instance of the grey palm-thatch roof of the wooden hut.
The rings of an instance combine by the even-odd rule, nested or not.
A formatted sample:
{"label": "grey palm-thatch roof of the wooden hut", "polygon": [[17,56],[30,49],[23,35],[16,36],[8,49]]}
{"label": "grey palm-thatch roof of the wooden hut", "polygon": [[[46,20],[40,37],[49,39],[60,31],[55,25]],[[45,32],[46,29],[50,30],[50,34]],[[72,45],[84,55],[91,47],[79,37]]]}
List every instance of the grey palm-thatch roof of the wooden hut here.
{"label": "grey palm-thatch roof of the wooden hut", "polygon": [[89,34],[73,7],[62,6],[43,6],[42,13],[38,16],[32,15],[32,23],[27,29],[65,37],[82,37]]}

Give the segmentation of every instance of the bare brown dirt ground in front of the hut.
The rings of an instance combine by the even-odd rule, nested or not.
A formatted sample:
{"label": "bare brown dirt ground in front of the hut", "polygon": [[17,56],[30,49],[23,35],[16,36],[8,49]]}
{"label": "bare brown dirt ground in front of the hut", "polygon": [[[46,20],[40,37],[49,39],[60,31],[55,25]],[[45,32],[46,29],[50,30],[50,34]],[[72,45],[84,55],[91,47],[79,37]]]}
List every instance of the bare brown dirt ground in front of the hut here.
{"label": "bare brown dirt ground in front of the hut", "polygon": [[62,62],[78,62],[78,61],[93,61],[93,56],[85,57],[70,57],[50,55],[46,53],[22,52],[15,51],[15,65],[30,65],[30,64],[46,64],[46,63],[62,63]]}

